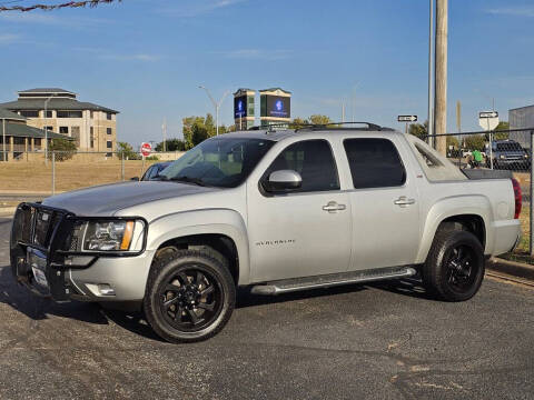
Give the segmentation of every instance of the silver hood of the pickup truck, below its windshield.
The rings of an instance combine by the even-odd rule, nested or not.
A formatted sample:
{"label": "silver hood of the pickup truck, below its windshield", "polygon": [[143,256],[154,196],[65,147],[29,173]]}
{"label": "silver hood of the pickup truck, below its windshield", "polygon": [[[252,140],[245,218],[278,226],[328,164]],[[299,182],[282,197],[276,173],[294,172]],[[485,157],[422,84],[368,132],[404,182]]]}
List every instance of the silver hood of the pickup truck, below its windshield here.
{"label": "silver hood of the pickup truck, below its windshield", "polygon": [[221,189],[164,181],[123,182],[61,193],[46,199],[42,203],[68,210],[77,216],[102,217],[150,201],[216,190]]}

